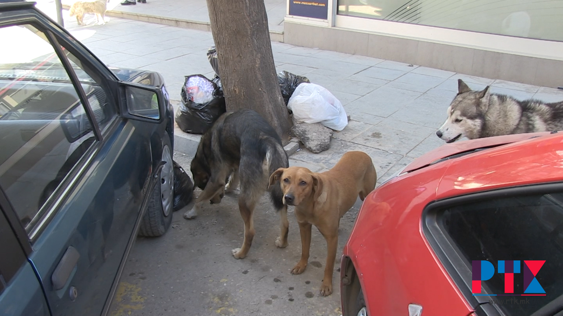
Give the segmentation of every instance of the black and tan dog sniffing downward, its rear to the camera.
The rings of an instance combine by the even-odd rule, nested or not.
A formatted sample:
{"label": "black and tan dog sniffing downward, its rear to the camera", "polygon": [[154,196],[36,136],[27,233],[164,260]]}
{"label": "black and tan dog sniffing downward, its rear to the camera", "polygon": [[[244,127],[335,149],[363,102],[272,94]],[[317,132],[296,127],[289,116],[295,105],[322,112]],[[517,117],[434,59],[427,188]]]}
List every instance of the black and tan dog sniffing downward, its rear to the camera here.
{"label": "black and tan dog sniffing downward, its rear to the camera", "polygon": [[[244,221],[244,242],[233,250],[236,259],[248,254],[254,238],[253,212],[268,189],[268,178],[274,170],[287,167],[288,157],[274,128],[253,110],[227,112],[203,134],[191,161],[194,183],[203,192],[184,218],[194,218],[207,201],[218,203],[224,192],[233,191],[240,182],[239,211]],[[229,184],[225,187],[226,179]],[[276,210],[280,211],[280,237],[276,246],[287,246],[289,222],[287,205],[279,186],[269,188]]]}

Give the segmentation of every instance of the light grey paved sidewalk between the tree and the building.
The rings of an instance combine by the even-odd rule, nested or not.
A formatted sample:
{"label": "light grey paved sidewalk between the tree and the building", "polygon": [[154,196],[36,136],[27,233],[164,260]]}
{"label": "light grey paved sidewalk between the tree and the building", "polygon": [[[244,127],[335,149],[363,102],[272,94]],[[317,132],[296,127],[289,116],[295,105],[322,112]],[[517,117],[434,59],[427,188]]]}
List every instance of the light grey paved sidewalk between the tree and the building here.
{"label": "light grey paved sidewalk between the tree and the building", "polygon": [[[153,1],[153,0],[149,0]],[[166,1],[166,0],[156,0]],[[137,4],[136,7],[141,7]],[[209,31],[111,17],[105,25],[78,26],[64,10],[65,25],[106,64],[154,70],[166,79],[176,104],[185,75],[213,76],[205,53],[213,45]],[[88,19],[95,19],[93,16]],[[491,92],[544,101],[563,100],[563,91],[430,69],[377,58],[272,42],[277,71],[304,75],[329,89],[345,106],[351,121],[334,133],[330,150],[292,156],[297,164],[313,171],[331,168],[343,152],[368,152],[379,179],[414,158],[444,144],[436,137],[446,109],[457,93],[457,79],[470,88],[491,85]],[[185,134],[189,139],[198,137]],[[177,132],[178,134],[178,132]],[[192,148],[193,149],[193,148]],[[297,162],[298,161],[298,162]]]}

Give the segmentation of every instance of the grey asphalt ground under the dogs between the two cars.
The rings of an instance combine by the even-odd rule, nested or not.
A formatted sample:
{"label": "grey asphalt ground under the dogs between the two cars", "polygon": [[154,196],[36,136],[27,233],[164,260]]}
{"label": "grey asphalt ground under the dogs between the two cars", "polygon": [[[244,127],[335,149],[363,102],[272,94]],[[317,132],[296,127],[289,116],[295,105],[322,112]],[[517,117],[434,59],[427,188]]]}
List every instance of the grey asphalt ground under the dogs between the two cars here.
{"label": "grey asphalt ground under the dogs between the two cars", "polygon": [[[189,170],[191,157],[175,152],[174,160]],[[291,164],[291,163],[290,163]],[[189,171],[188,171],[189,172]],[[194,196],[199,194],[196,190]],[[243,241],[238,192],[221,204],[206,205],[193,220],[182,218],[191,207],[173,214],[162,237],[138,237],[110,309],[118,315],[341,315],[339,254],[350,235],[358,203],[341,219],[333,294],[320,295],[327,246],[313,228],[311,256],[305,272],[292,275],[301,255],[293,209],[288,212],[289,246],[279,249],[279,216],[269,197],[255,211],[256,236],[247,258],[231,249]]]}

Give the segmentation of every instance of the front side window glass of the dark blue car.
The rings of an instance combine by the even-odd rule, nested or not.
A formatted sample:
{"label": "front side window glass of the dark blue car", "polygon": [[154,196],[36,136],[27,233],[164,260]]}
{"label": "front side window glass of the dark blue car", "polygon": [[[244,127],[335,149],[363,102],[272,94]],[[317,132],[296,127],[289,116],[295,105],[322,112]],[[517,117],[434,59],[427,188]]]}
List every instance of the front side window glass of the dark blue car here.
{"label": "front side window glass of the dark blue car", "polygon": [[[41,219],[61,183],[116,117],[104,89],[64,48],[81,87],[75,87],[48,37],[33,25],[0,28],[18,43],[0,51],[0,187],[26,231]],[[83,105],[77,89],[83,89]],[[91,106],[90,120],[84,106]]]}

